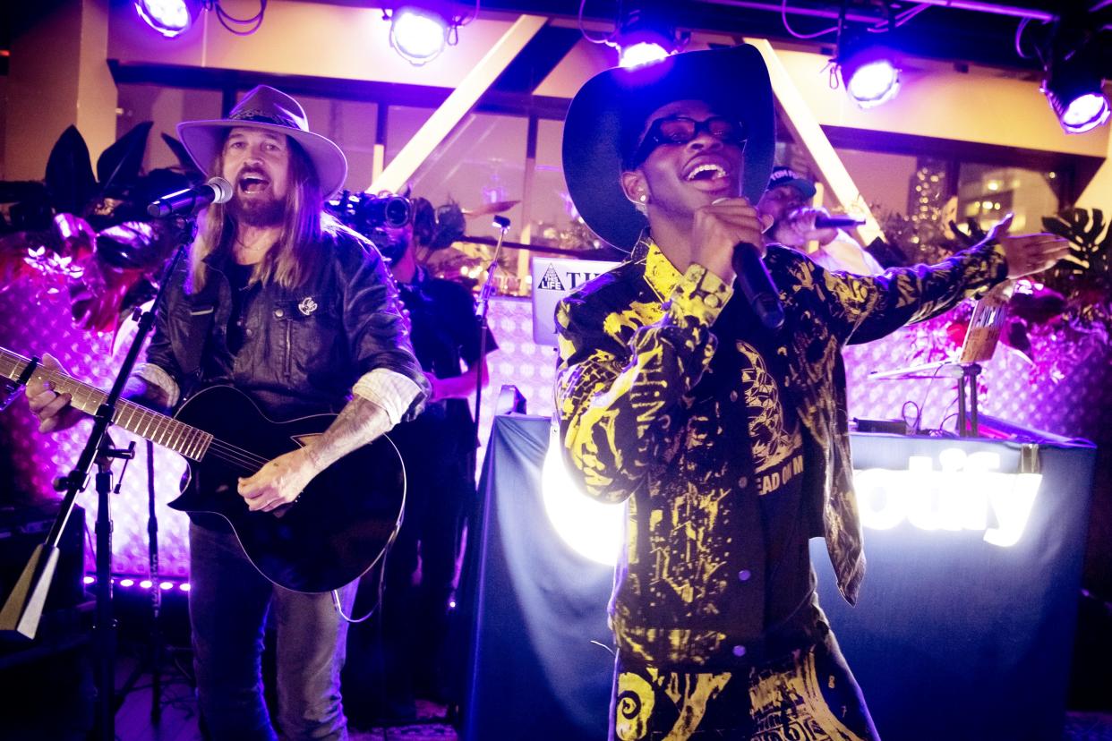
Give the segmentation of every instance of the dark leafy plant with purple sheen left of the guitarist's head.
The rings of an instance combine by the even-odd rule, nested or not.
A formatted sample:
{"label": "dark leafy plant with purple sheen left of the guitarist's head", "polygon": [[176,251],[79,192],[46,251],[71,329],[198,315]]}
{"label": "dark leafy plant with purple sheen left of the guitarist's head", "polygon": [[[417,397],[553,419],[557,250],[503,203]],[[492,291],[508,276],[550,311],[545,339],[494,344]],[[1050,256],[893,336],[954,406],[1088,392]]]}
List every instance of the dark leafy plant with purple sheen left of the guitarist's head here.
{"label": "dark leafy plant with purple sheen left of the guitarist's head", "polygon": [[[69,294],[73,322],[111,331],[155,290],[170,250],[188,239],[183,220],[149,222],[147,204],[188,188],[200,173],[176,139],[182,167],[142,174],[151,123],[139,123],[97,160],[68,128],[42,183],[0,183],[0,292],[30,283],[40,296]],[[100,182],[98,183],[97,177]]]}

